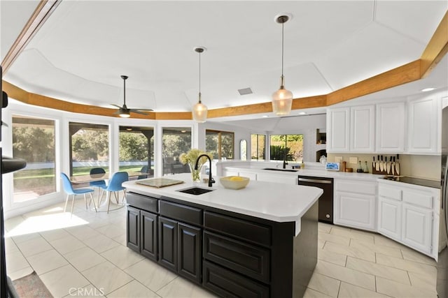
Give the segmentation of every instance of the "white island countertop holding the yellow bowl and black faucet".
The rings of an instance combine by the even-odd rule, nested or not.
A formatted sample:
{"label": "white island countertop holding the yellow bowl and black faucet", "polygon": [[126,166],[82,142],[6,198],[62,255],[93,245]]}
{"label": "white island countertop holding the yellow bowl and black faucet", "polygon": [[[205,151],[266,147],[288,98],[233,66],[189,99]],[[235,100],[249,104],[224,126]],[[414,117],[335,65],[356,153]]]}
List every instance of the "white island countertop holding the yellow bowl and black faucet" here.
{"label": "white island countertop holding the yellow bowl and black faucet", "polygon": [[163,195],[185,202],[202,204],[270,221],[281,223],[295,221],[295,234],[300,232],[300,218],[323,193],[321,188],[316,187],[253,180],[249,182],[246,188],[232,190],[224,188],[219,182],[219,177],[215,177],[216,183],[212,187],[214,191],[202,195],[189,195],[180,193],[179,190],[193,186],[209,187],[204,183],[193,184],[190,173],[176,174],[165,178],[182,180],[185,183],[164,188],[153,188],[136,184],[137,180],[132,180],[126,181],[123,183],[123,186],[128,191],[134,190],[157,197]]}

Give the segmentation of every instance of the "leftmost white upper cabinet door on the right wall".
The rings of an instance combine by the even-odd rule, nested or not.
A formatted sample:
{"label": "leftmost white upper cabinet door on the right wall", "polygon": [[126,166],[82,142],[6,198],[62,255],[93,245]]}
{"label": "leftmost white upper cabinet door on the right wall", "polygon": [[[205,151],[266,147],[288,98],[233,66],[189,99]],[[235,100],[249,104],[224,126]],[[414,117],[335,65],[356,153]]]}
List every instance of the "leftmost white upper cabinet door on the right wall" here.
{"label": "leftmost white upper cabinet door on the right wall", "polygon": [[350,151],[350,108],[327,110],[327,151]]}

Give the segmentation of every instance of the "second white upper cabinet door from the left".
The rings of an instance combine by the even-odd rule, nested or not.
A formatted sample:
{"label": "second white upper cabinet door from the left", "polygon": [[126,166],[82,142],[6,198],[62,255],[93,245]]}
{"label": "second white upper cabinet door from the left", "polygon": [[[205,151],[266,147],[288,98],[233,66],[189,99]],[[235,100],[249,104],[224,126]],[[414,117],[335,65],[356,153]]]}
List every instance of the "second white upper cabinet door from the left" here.
{"label": "second white upper cabinet door from the left", "polygon": [[356,152],[374,152],[374,105],[351,107],[350,149]]}

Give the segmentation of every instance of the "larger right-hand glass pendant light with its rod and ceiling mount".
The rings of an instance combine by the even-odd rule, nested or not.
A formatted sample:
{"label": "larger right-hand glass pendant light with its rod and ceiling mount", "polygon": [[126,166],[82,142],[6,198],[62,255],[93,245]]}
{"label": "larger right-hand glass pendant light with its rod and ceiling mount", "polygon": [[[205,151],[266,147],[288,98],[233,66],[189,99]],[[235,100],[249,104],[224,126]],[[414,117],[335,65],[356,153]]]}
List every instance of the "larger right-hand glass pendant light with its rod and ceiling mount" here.
{"label": "larger right-hand glass pendant light with its rod and ceiling mount", "polygon": [[288,15],[279,15],[275,22],[281,24],[281,81],[280,89],[272,94],[272,111],[277,115],[287,115],[291,112],[293,105],[293,92],[285,89],[283,76],[283,25],[289,20]]}

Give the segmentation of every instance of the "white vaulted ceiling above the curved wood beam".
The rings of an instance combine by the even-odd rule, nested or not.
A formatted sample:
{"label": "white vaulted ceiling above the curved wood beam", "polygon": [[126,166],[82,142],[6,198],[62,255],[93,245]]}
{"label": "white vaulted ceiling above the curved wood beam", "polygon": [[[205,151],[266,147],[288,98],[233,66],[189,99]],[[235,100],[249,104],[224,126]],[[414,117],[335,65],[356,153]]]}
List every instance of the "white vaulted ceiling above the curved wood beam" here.
{"label": "white vaulted ceiling above the curved wood beam", "polygon": [[[2,60],[37,4],[0,1]],[[120,75],[128,75],[128,107],[190,111],[199,85],[193,48],[201,45],[207,47],[201,56],[204,104],[269,102],[281,74],[281,25],[274,17],[290,13],[286,88],[295,98],[322,95],[419,59],[447,9],[448,1],[430,0],[64,0],[4,80],[33,93],[111,107],[123,104]],[[428,83],[447,87],[447,66],[442,60]],[[407,85],[397,92],[418,92]],[[253,94],[240,96],[237,89],[246,87]]]}

